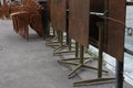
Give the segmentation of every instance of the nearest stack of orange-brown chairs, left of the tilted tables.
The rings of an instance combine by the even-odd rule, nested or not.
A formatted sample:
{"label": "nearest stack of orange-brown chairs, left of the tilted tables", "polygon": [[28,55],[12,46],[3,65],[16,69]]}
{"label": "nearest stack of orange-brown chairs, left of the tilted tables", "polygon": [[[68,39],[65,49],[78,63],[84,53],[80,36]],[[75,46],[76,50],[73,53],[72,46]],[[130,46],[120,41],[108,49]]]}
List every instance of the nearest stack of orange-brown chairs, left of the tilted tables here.
{"label": "nearest stack of orange-brown chairs, left of the tilted tables", "polygon": [[23,0],[22,4],[12,4],[10,15],[13,30],[25,40],[29,40],[29,26],[31,26],[40,36],[43,36],[42,9],[35,0]]}

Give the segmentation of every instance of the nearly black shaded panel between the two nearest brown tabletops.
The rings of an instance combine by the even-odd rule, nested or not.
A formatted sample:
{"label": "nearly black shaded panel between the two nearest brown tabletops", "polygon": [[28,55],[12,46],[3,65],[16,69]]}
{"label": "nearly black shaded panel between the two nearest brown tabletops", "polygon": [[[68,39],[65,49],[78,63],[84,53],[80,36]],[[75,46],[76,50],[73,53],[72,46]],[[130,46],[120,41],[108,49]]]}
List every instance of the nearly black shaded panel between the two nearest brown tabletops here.
{"label": "nearly black shaded panel between the two nearest brown tabletops", "polygon": [[[103,13],[105,11],[105,1],[106,0],[91,0],[90,11]],[[90,14],[90,32],[89,32],[90,38],[99,41],[99,26],[96,22],[101,20],[102,20],[101,18],[94,14]]]}

